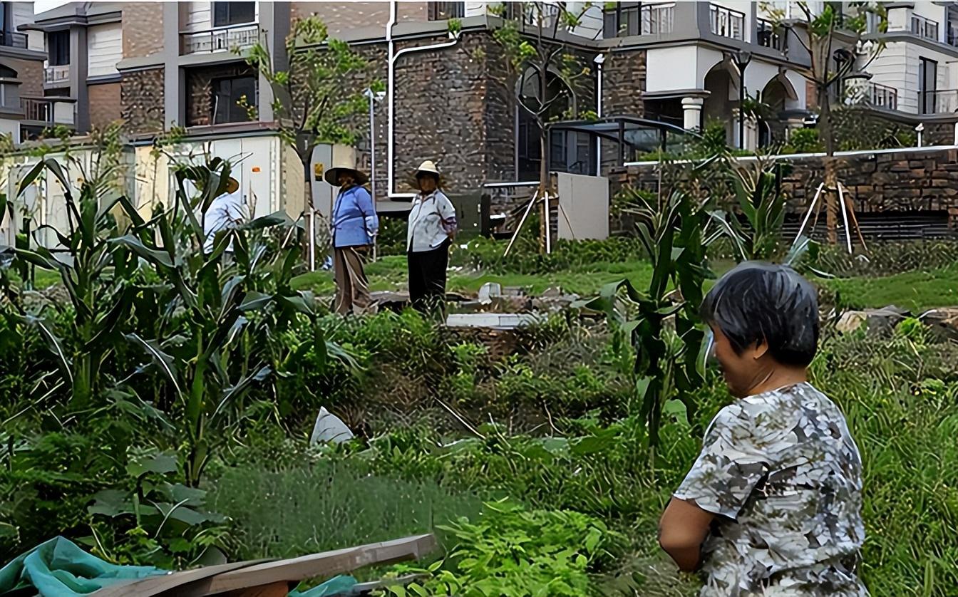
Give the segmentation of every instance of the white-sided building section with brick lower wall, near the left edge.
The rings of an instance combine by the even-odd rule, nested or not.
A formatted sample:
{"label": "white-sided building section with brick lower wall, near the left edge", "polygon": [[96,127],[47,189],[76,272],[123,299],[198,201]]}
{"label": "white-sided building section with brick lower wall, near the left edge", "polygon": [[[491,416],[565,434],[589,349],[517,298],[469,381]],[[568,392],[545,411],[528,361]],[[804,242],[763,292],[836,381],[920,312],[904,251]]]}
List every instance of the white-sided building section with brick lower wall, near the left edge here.
{"label": "white-sided building section with brick lower wall, near the left edge", "polygon": [[117,120],[120,114],[120,73],[123,57],[121,4],[71,2],[34,16],[21,31],[43,35],[43,106],[31,127],[39,133],[64,125],[78,133]]}

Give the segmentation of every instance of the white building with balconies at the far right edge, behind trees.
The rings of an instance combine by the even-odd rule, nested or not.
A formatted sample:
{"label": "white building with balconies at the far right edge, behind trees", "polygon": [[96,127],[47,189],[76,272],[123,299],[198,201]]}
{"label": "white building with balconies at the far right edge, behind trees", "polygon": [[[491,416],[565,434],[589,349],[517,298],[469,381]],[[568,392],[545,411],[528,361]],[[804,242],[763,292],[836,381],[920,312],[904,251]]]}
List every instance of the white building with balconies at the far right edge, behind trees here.
{"label": "white building with balconies at the far right edge, behind trees", "polygon": [[[958,121],[958,2],[888,4],[888,31],[872,22],[885,46],[868,67],[861,93],[885,116],[923,124],[927,141],[954,140]],[[936,134],[937,133],[937,134]]]}

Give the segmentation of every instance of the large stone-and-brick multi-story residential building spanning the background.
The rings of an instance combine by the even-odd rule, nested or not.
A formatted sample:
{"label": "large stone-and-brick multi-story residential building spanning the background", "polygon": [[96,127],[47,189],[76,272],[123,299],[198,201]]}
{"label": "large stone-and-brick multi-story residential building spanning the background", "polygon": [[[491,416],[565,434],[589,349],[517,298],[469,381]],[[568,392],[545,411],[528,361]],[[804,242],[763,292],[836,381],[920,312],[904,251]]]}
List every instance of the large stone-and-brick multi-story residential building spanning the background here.
{"label": "large stone-and-brick multi-story residential building spanning the background", "polygon": [[[547,17],[554,18],[548,6],[554,3],[545,4]],[[787,122],[803,122],[809,100],[798,70],[807,56],[800,44],[789,43],[789,35],[800,33],[775,29],[764,5],[565,4],[583,12],[582,22],[572,30],[560,27],[559,34],[591,75],[575,90],[574,102],[556,106],[556,117],[594,112],[632,119],[630,127],[636,119],[679,128],[719,121],[730,142],[744,146],[784,135]],[[783,3],[783,10],[791,4]],[[425,158],[440,160],[453,192],[478,193],[490,181],[537,177],[543,159],[539,131],[515,99],[517,74],[493,38],[503,18],[519,19],[527,30],[532,25],[517,5],[507,5],[501,16],[487,2],[120,6],[67,5],[37,15],[27,28],[46,34],[44,98],[73,102],[78,131],[118,115],[141,133],[172,126],[207,135],[269,128],[275,120],[269,87],[236,50],[262,42],[282,67],[291,22],[316,14],[390,88],[375,106],[373,139],[366,135],[360,143],[364,150],[377,147],[374,170],[388,183],[377,187],[381,197],[406,189],[405,173]],[[448,33],[450,18],[462,19],[457,36]],[[768,122],[744,122],[740,139],[743,95],[763,100],[772,115]],[[241,98],[257,106],[259,122],[248,122]],[[110,107],[101,112],[103,106]],[[597,141],[587,127],[556,130],[548,146],[550,167],[604,172],[649,148],[643,140],[654,136],[654,125],[638,126],[622,134],[625,151],[613,150],[607,139]]]}

